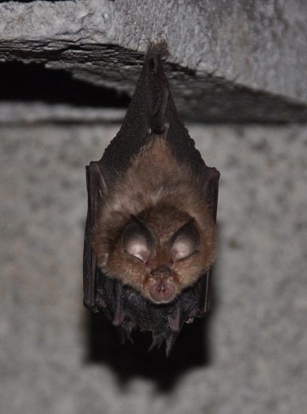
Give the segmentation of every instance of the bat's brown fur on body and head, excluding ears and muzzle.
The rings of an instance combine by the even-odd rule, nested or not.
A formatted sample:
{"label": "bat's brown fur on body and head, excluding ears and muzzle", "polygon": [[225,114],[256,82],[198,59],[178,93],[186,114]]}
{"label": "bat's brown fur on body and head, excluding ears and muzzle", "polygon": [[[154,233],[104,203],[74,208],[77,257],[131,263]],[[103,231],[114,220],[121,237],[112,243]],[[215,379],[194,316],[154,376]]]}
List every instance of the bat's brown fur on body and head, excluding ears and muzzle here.
{"label": "bat's brown fur on body and head, excluding ears and muzzle", "polygon": [[[155,251],[146,264],[122,249],[122,232],[131,214],[144,222],[155,238]],[[199,253],[172,263],[168,240],[191,218],[195,218],[200,235]],[[214,262],[216,229],[203,186],[187,165],[179,165],[161,137],[150,141],[104,195],[93,247],[106,275],[133,286],[148,299],[152,268],[170,268],[175,295],[179,295]]]}

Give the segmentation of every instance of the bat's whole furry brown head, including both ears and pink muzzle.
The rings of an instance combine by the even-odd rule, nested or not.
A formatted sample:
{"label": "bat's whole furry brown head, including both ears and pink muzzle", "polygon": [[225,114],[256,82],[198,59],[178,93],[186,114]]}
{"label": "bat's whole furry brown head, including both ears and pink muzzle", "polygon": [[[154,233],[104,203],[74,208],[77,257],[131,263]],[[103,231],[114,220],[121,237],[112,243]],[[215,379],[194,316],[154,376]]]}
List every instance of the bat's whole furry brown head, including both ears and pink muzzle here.
{"label": "bat's whole furry brown head, including both ears and pink muzzle", "polygon": [[211,266],[215,229],[205,234],[194,218],[177,211],[139,216],[131,215],[104,270],[150,301],[168,303]]}

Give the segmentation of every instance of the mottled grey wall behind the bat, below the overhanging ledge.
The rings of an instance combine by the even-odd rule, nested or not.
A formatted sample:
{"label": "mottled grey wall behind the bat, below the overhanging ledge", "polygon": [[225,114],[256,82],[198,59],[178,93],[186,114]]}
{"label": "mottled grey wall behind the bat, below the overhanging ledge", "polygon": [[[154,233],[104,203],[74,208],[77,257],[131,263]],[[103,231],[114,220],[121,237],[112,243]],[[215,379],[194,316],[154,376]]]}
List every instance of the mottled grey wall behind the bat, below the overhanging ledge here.
{"label": "mottled grey wall behind the bat, below the overhanging ledge", "polygon": [[307,128],[189,126],[221,172],[212,360],[168,393],[85,360],[84,165],[118,128],[1,128],[0,412],[304,413]]}

